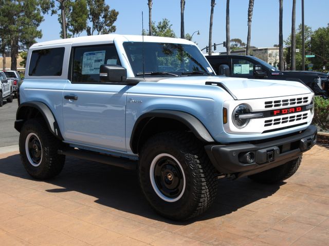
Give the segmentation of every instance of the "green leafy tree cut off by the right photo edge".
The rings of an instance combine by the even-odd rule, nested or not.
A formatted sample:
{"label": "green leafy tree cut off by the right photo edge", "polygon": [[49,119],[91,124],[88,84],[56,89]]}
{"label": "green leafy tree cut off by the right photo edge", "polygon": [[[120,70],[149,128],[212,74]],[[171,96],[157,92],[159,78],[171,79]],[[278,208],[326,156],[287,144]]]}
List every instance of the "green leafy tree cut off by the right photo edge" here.
{"label": "green leafy tree cut off by the right photo edge", "polygon": [[309,40],[310,46],[306,46],[305,54],[307,51],[316,54],[314,58],[309,58],[314,64],[314,69],[322,70],[322,66],[329,67],[329,24],[327,27],[320,27],[314,31],[311,39]]}

